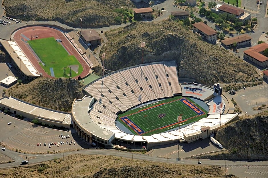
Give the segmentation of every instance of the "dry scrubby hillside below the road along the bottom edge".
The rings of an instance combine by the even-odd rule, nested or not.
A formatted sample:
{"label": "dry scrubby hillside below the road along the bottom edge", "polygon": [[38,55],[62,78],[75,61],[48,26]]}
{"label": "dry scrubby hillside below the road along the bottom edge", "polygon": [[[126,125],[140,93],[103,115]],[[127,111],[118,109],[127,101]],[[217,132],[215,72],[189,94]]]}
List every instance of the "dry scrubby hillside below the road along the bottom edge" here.
{"label": "dry scrubby hillside below the road along the bottom edge", "polygon": [[172,165],[131,160],[113,156],[70,155],[54,161],[0,170],[2,178],[19,177],[88,177],[88,178],[235,178],[224,175],[223,168],[214,166]]}

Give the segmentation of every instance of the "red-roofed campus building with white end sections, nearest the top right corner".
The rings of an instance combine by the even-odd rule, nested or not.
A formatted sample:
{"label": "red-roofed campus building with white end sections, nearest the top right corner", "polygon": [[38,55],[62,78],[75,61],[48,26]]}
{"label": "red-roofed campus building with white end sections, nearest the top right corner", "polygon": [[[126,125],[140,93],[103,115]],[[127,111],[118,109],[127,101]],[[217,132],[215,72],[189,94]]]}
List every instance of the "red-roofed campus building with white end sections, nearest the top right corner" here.
{"label": "red-roofed campus building with white end sections, nearest the top right corner", "polygon": [[[234,7],[227,4],[218,4],[216,7],[211,9],[212,12],[219,14],[219,13],[228,13],[235,15],[240,22],[245,23],[247,20],[251,19],[251,14],[246,13],[244,9],[240,9],[238,7]],[[227,19],[228,20],[228,19]]]}

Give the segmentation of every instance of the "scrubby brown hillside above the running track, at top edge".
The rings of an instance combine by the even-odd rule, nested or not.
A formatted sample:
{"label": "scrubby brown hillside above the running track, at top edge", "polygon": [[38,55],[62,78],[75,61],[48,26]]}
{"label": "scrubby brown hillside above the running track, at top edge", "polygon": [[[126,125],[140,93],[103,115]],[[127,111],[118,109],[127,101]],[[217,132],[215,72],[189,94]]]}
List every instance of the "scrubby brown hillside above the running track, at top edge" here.
{"label": "scrubby brown hillside above the running track, at top edge", "polygon": [[[24,21],[58,21],[70,27],[107,27],[118,24],[114,10],[120,7],[133,9],[130,0],[4,0],[6,14]],[[148,3],[149,5],[149,3]]]}

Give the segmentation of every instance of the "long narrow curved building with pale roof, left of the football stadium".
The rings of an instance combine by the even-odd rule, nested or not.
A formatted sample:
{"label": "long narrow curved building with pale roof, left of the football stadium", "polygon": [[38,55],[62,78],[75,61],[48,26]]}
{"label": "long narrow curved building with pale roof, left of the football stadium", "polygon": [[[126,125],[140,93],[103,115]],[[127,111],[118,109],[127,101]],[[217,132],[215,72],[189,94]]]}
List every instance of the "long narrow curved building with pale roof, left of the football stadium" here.
{"label": "long narrow curved building with pale roof, left of the football stadium", "polygon": [[15,98],[13,96],[10,97],[3,97],[0,99],[0,103],[4,104],[5,106],[9,108],[16,108],[16,110],[32,114],[36,116],[36,118],[49,120],[53,122],[60,122],[64,124],[70,124],[71,123],[71,115],[67,112],[60,112],[57,110],[51,110],[48,108],[44,108],[41,106],[37,106],[28,102],[25,102],[23,100],[20,100],[18,98]]}

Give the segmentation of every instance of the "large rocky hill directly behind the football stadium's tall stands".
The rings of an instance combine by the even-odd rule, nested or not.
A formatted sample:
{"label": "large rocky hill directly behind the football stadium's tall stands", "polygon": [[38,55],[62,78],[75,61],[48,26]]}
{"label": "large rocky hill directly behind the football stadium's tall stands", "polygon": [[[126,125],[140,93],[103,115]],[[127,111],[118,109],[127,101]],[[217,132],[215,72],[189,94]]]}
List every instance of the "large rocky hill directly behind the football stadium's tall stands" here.
{"label": "large rocky hill directly behind the football stadium's tall stands", "polygon": [[145,42],[144,63],[176,60],[180,77],[212,84],[250,81],[257,76],[250,64],[171,20],[131,23],[108,31],[106,37],[107,46],[100,54],[106,52],[105,68],[110,70],[141,64],[141,42]]}

